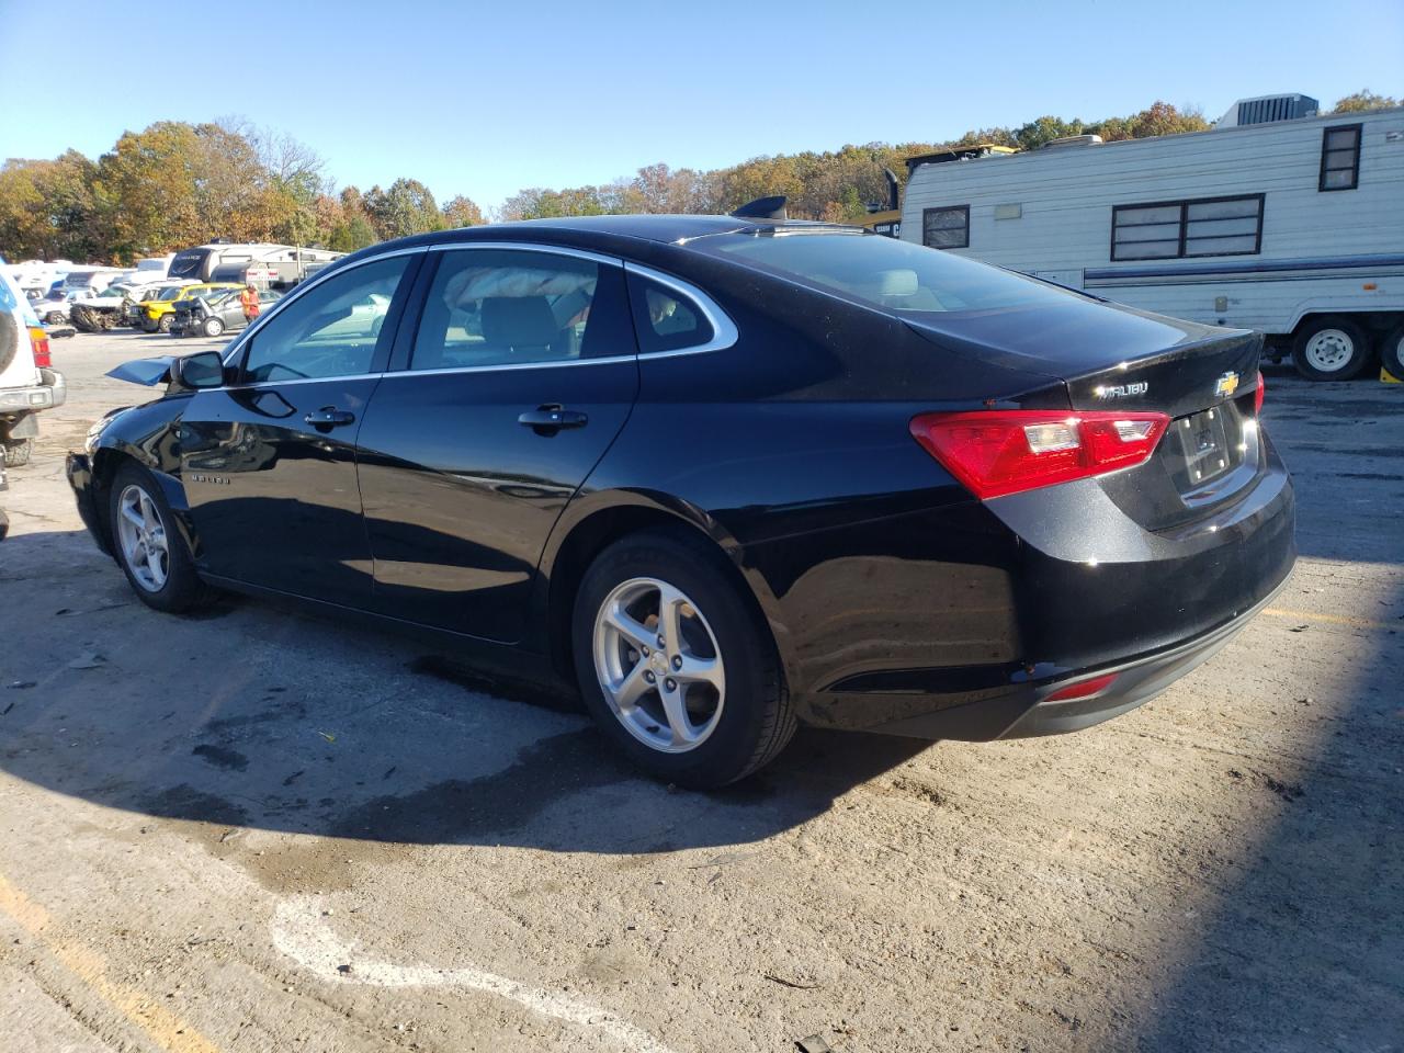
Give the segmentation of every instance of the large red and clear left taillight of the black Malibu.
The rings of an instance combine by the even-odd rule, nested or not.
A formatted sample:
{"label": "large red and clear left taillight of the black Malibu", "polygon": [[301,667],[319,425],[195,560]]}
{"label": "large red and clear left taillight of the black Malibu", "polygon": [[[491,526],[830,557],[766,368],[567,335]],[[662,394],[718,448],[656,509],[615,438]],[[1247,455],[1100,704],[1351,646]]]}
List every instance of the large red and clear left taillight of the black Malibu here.
{"label": "large red and clear left taillight of the black Malibu", "polygon": [[911,434],[987,500],[1144,463],[1168,427],[1164,413],[990,410],[924,413]]}

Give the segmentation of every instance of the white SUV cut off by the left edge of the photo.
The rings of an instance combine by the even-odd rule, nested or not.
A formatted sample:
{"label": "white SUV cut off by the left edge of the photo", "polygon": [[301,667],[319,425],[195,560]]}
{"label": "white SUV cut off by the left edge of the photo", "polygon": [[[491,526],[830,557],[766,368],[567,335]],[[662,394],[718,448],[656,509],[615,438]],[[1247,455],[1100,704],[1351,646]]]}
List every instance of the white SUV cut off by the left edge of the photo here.
{"label": "white SUV cut off by the left edge of the photo", "polygon": [[63,373],[49,361],[49,336],[0,258],[0,449],[6,465],[28,463],[39,434],[37,414],[62,406],[66,396]]}

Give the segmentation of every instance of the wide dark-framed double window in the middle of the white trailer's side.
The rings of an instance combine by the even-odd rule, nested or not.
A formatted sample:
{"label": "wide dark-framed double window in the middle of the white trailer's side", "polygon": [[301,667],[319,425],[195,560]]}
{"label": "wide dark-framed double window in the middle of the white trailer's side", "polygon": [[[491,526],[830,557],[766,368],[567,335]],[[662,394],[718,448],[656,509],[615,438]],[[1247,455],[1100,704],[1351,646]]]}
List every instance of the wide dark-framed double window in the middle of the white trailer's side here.
{"label": "wide dark-framed double window in the middle of the white trailer's side", "polygon": [[1112,208],[1112,260],[1254,256],[1262,250],[1262,194]]}

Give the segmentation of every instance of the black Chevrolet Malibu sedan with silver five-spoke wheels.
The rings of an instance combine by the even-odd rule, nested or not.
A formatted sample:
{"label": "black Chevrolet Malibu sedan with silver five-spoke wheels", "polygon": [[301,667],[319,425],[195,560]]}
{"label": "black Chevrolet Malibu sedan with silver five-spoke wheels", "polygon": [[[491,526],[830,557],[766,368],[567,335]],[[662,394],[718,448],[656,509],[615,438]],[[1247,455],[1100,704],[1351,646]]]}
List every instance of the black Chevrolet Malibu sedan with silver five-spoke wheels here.
{"label": "black Chevrolet Malibu sedan with silver five-spoke wheels", "polygon": [[852,227],[597,216],[326,268],[69,461],[136,594],[292,597],[573,681],[689,786],[804,722],[1067,731],[1283,583],[1261,337]]}

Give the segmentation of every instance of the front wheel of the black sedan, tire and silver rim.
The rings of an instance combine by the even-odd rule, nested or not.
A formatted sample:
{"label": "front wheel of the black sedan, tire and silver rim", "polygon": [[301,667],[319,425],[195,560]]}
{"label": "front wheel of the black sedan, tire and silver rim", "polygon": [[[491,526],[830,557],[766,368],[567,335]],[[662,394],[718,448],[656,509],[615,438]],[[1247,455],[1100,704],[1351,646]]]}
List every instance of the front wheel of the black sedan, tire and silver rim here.
{"label": "front wheel of the black sedan, tire and silver rim", "polygon": [[[147,524],[145,531],[128,521],[124,504],[142,515]],[[117,470],[108,489],[108,526],[117,562],[143,604],[166,614],[183,614],[213,598],[213,590],[195,573],[195,562],[160,486],[145,468],[128,462]],[[138,545],[143,535],[146,541]],[[142,560],[140,552],[150,550],[153,543],[157,557]]]}

